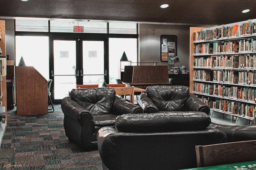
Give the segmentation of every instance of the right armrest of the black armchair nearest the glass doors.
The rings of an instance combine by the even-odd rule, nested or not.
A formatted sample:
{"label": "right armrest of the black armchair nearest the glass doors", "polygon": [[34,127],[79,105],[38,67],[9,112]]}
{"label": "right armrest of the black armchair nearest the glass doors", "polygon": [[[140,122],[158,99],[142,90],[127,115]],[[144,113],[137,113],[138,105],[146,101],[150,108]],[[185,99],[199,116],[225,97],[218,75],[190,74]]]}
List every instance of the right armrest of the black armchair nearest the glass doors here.
{"label": "right armrest of the black armchair nearest the glass doors", "polygon": [[122,99],[116,96],[113,102],[113,113],[115,115],[122,115],[122,114],[140,114],[142,113],[142,108],[138,105],[134,105],[131,102],[128,102],[125,99]]}

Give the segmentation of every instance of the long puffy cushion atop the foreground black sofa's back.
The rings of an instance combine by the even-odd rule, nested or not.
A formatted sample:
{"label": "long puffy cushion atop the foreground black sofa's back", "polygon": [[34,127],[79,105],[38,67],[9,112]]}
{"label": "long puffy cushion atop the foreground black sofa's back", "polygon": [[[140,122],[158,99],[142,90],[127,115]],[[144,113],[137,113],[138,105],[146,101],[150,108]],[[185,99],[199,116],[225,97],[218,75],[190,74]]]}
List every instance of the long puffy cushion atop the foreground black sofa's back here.
{"label": "long puffy cushion atop the foreground black sofa's back", "polygon": [[116,129],[134,133],[192,131],[205,130],[210,123],[210,117],[203,112],[124,114],[116,118]]}

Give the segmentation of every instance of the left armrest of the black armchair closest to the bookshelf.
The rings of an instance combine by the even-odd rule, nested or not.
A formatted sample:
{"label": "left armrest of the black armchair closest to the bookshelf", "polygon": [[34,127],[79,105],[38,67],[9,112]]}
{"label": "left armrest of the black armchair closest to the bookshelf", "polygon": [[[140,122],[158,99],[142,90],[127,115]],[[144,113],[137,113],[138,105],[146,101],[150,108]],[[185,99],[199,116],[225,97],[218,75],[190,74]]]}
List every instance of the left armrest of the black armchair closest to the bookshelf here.
{"label": "left armrest of the black armchair closest to the bookshelf", "polygon": [[158,113],[159,112],[159,109],[157,108],[157,106],[145,93],[143,93],[139,96],[138,104],[143,109],[143,113]]}

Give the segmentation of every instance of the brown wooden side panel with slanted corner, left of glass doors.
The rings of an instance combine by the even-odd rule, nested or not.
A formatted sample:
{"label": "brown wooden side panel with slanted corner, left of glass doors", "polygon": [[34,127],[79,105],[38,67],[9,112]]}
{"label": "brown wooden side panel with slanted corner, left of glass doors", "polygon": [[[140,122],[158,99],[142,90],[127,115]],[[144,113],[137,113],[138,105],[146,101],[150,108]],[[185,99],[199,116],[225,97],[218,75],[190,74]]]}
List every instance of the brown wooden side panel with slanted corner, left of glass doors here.
{"label": "brown wooden side panel with slanted corner, left of glass doors", "polygon": [[32,66],[16,67],[17,115],[48,113],[47,80]]}

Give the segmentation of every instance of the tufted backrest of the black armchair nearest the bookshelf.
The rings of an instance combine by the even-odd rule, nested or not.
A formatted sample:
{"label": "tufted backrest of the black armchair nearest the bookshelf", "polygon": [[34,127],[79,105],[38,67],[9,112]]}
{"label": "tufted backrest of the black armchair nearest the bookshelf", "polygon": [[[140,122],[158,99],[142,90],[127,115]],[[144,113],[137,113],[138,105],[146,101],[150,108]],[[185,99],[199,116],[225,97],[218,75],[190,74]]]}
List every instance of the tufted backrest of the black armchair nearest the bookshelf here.
{"label": "tufted backrest of the black armchair nearest the bookshelf", "polygon": [[149,86],[146,94],[159,111],[184,111],[186,100],[189,97],[189,88],[178,85]]}

